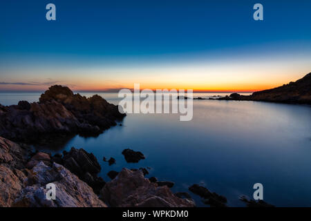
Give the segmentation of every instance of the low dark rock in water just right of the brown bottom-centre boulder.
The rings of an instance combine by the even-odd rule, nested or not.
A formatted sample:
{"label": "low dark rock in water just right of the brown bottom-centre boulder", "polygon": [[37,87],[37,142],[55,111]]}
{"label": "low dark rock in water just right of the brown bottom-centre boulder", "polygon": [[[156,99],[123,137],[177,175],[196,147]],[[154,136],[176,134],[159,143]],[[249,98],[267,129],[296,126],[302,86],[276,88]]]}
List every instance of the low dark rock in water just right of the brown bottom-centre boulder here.
{"label": "low dark rock in water just right of the brown bottom-centre boulder", "polygon": [[195,193],[196,195],[200,195],[201,198],[205,199],[204,203],[209,204],[210,206],[215,207],[224,207],[226,206],[227,199],[218,195],[217,193],[211,193],[204,186],[199,186],[198,184],[194,184],[189,187],[189,191]]}

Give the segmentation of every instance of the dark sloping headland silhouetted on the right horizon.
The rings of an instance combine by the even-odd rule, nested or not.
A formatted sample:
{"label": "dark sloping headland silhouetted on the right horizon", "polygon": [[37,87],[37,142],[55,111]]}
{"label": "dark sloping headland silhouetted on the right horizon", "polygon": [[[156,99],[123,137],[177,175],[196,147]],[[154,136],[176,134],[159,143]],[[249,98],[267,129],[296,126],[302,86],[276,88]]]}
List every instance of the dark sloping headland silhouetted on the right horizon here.
{"label": "dark sloping headland silhouetted on the right horizon", "polygon": [[311,104],[311,73],[305,77],[283,86],[261,90],[245,96],[233,93],[226,97],[220,97],[223,100],[238,101],[262,101],[262,102],[278,102],[288,104]]}

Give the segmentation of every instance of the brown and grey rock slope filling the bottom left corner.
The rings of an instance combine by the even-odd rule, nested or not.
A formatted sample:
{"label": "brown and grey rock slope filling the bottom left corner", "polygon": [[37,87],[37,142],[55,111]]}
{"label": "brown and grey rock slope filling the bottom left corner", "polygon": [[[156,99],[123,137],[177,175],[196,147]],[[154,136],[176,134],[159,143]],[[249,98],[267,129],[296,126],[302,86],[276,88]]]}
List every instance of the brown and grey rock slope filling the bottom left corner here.
{"label": "brown and grey rock slope filling the bottom left corner", "polygon": [[[50,155],[39,152],[30,158],[29,149],[0,137],[0,206],[106,206],[88,184],[52,163]],[[56,200],[46,200],[50,182],[56,186]]]}

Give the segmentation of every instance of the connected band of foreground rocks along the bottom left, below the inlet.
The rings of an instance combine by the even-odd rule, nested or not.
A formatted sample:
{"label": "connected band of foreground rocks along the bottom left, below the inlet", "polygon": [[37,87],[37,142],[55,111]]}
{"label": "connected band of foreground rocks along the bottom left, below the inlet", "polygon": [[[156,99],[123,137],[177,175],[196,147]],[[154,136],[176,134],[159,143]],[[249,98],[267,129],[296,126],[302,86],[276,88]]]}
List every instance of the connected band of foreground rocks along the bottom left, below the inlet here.
{"label": "connected band of foreground rocks along the bottom left, below the inlet", "polygon": [[[0,137],[0,206],[195,206],[144,178],[142,170],[124,168],[107,183],[97,177],[99,171],[94,155],[83,149],[64,156],[33,154],[28,146]],[[46,199],[48,183],[56,186],[55,200]]]}

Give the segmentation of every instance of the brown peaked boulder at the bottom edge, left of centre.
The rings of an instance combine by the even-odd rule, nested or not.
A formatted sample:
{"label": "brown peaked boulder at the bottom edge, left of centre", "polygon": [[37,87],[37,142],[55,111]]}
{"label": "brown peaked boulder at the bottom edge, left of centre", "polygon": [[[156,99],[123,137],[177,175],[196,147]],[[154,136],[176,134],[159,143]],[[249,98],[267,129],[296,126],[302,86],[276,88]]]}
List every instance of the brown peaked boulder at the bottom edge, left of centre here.
{"label": "brown peaked boulder at the bottom edge, left of centre", "polygon": [[192,207],[194,202],[178,198],[167,186],[144,178],[142,171],[122,169],[117,178],[102,189],[102,199],[110,206]]}

